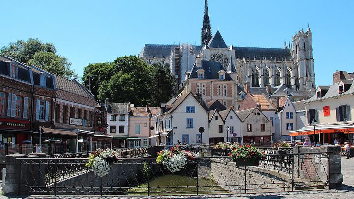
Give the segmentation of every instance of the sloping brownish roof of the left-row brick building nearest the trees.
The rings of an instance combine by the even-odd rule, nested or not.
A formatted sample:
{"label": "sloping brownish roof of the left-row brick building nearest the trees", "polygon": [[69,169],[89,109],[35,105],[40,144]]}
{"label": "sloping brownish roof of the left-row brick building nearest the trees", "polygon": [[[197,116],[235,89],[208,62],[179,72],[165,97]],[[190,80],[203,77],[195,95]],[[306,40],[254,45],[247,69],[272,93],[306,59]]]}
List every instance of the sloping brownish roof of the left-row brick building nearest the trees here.
{"label": "sloping brownish roof of the left-row brick building nearest the trees", "polygon": [[68,80],[57,75],[54,75],[55,85],[57,89],[64,90],[83,97],[93,98],[93,95],[76,80]]}

